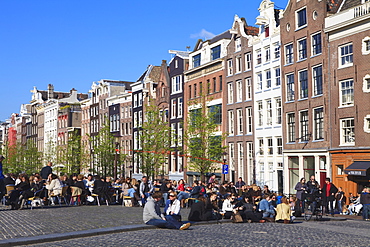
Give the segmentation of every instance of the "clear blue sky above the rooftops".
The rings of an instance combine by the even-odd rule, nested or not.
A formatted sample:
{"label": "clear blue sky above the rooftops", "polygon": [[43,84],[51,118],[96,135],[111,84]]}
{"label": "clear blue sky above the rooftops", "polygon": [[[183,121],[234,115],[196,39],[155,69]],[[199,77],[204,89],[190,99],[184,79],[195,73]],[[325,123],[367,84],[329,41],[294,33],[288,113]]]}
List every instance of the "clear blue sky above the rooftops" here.
{"label": "clear blue sky above the rooftops", "polygon": [[[36,86],[86,93],[93,81],[136,81],[168,50],[231,28],[254,25],[261,1],[1,0],[0,120],[19,112]],[[285,8],[288,0],[276,0]]]}

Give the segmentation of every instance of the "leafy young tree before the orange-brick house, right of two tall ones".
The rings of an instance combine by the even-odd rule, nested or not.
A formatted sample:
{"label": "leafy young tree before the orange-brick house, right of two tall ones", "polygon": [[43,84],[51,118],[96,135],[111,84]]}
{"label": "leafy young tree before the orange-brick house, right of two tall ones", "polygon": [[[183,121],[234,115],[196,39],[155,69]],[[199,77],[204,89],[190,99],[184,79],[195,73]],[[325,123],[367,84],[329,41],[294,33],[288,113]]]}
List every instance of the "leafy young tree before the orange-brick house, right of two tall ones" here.
{"label": "leafy young tree before the orange-brick house, right of two tall ones", "polygon": [[207,107],[206,97],[201,96],[198,101],[189,104],[189,121],[187,123],[183,139],[184,152],[189,156],[188,167],[200,173],[201,180],[204,175],[219,168],[222,154],[226,146],[222,143],[226,133],[216,135],[219,131],[217,119],[220,119],[220,106]]}

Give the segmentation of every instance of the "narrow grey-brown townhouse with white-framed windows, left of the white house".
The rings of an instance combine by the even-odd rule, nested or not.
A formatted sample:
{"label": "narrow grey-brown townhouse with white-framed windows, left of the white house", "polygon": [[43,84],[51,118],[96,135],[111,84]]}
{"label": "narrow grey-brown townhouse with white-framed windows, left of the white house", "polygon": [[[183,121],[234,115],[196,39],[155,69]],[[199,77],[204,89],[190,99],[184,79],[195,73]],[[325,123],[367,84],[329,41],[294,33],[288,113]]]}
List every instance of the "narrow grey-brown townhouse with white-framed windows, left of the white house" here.
{"label": "narrow grey-brown townhouse with white-framed windows, left of the white house", "polygon": [[229,181],[239,177],[253,183],[253,60],[252,40],[258,28],[248,26],[244,18],[235,16],[230,29],[231,41],[227,46],[225,62],[226,90],[223,92],[224,132],[228,133]]}

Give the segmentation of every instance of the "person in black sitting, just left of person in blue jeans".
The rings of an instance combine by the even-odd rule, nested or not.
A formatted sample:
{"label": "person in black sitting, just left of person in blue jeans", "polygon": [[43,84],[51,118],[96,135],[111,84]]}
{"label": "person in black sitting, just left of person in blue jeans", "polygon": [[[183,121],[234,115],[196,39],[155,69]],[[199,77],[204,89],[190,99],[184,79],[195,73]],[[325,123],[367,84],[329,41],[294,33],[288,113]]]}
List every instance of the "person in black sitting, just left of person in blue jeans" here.
{"label": "person in black sitting, just left of person in blue jeans", "polygon": [[243,197],[235,205],[234,213],[239,212],[240,216],[243,218],[243,222],[260,222],[264,223],[265,220],[262,219],[262,213],[255,212],[256,206],[251,203],[251,198]]}

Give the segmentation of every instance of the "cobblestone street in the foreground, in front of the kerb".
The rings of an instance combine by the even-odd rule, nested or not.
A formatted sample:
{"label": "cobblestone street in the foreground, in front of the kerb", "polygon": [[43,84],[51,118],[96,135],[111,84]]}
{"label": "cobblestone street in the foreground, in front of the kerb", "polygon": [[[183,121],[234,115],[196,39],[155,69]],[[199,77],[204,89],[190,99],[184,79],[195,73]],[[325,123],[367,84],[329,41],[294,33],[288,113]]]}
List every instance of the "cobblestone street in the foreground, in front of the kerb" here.
{"label": "cobblestone street in the foreground, in front of the kerb", "polygon": [[189,230],[151,229],[33,246],[369,246],[370,223],[213,224]]}

